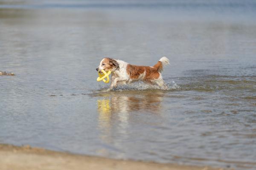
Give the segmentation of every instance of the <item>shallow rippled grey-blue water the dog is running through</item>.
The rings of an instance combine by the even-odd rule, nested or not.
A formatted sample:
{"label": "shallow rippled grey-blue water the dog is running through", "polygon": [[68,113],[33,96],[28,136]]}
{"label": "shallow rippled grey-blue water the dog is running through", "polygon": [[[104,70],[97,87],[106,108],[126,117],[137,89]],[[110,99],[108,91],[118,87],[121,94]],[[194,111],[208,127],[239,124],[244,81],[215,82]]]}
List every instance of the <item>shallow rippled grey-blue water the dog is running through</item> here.
{"label": "shallow rippled grey-blue water the dog is running through", "polygon": [[[118,159],[256,168],[254,1],[2,1],[0,143]],[[104,92],[103,57],[154,65]]]}

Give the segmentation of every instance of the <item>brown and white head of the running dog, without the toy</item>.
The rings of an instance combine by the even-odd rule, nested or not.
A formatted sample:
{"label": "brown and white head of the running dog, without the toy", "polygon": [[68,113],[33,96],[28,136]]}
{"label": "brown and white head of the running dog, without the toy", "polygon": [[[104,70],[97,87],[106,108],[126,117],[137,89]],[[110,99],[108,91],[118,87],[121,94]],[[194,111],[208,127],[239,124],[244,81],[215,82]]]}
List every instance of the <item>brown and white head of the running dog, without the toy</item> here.
{"label": "brown and white head of the running dog, without the toy", "polygon": [[119,63],[111,58],[104,58],[99,63],[99,67],[96,68],[96,71],[101,73],[102,70],[105,71],[115,71],[119,70]]}

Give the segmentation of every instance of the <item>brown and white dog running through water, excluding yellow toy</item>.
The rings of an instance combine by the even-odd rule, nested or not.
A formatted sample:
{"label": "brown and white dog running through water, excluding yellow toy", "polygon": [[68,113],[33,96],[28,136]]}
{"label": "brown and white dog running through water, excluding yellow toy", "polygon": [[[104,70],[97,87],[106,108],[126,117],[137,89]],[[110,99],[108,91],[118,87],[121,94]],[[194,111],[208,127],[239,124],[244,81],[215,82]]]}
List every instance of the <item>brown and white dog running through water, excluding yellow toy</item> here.
{"label": "brown and white dog running through water, excluding yellow toy", "polygon": [[96,68],[96,71],[111,71],[112,76],[109,90],[114,87],[116,88],[117,85],[126,85],[139,80],[151,85],[158,85],[161,89],[167,90],[161,72],[163,71],[163,66],[168,64],[169,59],[166,57],[162,57],[153,67],[131,65],[122,60],[104,58],[100,62],[99,67]]}

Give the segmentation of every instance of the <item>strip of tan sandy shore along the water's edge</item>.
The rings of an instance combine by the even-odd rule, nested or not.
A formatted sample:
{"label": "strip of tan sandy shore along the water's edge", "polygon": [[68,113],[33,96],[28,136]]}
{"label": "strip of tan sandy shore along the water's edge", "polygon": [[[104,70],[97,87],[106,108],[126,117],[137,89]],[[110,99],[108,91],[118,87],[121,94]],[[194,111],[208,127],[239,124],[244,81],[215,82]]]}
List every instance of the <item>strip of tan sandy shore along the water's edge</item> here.
{"label": "strip of tan sandy shore along the water's edge", "polygon": [[62,153],[29,145],[0,144],[1,170],[224,170],[177,164],[114,160]]}

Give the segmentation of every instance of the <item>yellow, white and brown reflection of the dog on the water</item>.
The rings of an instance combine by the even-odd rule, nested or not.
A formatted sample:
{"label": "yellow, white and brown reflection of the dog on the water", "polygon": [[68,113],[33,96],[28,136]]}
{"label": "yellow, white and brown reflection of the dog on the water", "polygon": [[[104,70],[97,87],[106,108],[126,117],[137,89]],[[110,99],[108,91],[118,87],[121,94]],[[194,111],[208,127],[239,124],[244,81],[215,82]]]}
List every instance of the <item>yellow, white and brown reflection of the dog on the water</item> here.
{"label": "yellow, white and brown reflection of the dog on the water", "polygon": [[[129,136],[129,123],[131,113],[135,111],[160,113],[161,102],[163,100],[164,91],[146,91],[140,92],[129,91],[123,93],[105,93],[98,94],[99,99],[99,129],[100,138],[102,142],[112,144],[114,142],[113,136],[122,134],[122,138]],[[154,97],[153,97],[154,96]],[[141,121],[145,121],[144,118]],[[99,152],[107,152],[100,150]]]}

